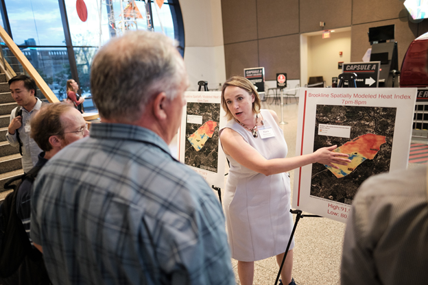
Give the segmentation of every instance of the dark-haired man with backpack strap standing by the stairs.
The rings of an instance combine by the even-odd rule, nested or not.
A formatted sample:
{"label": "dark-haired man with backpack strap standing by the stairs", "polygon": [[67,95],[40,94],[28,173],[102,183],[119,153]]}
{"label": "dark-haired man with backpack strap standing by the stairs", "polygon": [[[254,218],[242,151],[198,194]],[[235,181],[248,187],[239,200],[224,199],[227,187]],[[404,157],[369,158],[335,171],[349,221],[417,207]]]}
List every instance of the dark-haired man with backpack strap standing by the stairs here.
{"label": "dark-haired man with backpack strap standing by the stairs", "polygon": [[42,106],[42,101],[36,97],[36,82],[27,75],[16,75],[9,80],[10,93],[18,104],[10,113],[10,124],[6,139],[13,147],[19,147],[22,156],[24,172],[36,165],[38,153],[42,150],[29,136],[29,122],[32,115]]}

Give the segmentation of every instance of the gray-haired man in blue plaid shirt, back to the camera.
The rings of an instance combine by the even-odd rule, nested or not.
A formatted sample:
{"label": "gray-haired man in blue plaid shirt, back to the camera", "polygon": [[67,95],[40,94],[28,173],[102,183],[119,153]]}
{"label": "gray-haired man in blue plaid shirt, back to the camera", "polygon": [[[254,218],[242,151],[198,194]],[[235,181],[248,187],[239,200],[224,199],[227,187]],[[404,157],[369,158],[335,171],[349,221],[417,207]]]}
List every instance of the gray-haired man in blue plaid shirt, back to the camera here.
{"label": "gray-haired man in blue plaid shirt, back to the camera", "polygon": [[49,161],[32,195],[53,284],[235,284],[219,201],[168,149],[187,86],[161,34],[128,32],[95,55],[102,123]]}

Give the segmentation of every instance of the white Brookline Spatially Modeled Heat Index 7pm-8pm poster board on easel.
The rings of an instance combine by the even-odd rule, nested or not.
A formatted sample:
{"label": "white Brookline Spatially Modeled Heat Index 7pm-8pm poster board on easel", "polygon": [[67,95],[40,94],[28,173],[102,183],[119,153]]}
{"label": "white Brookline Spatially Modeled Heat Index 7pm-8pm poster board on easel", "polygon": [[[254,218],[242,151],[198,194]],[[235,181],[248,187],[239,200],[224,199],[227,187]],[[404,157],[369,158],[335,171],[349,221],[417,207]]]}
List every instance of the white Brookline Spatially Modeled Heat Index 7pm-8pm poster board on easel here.
{"label": "white Brookline Spatially Modeled Heat Index 7pm-8pm poster board on easel", "polygon": [[292,206],[346,223],[371,175],[406,169],[416,88],[300,88],[296,156],[337,145],[352,161],[294,170]]}

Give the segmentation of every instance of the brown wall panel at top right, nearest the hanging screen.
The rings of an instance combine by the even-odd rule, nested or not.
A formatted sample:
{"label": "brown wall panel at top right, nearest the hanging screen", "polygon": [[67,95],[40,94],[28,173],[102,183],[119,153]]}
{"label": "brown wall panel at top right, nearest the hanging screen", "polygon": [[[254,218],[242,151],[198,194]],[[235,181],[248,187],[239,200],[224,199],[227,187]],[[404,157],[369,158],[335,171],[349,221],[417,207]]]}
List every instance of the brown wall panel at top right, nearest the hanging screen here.
{"label": "brown wall panel at top right, nearest the hanging screen", "polygon": [[402,0],[353,1],[353,25],[407,16]]}

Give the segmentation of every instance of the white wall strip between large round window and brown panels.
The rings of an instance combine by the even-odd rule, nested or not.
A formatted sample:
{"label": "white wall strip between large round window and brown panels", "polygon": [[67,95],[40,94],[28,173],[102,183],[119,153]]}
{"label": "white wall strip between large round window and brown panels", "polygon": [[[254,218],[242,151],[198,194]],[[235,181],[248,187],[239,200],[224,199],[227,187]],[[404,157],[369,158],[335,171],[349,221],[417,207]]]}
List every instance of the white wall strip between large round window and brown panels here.
{"label": "white wall strip between large round window and brown panels", "polygon": [[198,81],[209,89],[226,81],[221,0],[180,0],[185,25],[185,64],[190,86],[198,90]]}

